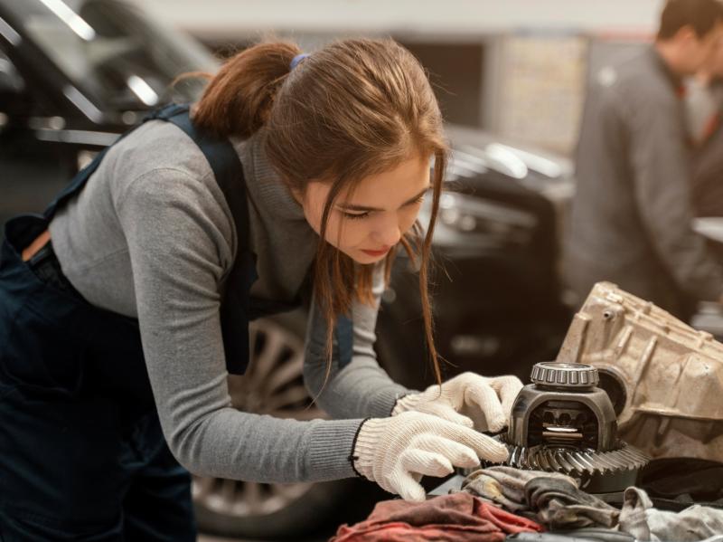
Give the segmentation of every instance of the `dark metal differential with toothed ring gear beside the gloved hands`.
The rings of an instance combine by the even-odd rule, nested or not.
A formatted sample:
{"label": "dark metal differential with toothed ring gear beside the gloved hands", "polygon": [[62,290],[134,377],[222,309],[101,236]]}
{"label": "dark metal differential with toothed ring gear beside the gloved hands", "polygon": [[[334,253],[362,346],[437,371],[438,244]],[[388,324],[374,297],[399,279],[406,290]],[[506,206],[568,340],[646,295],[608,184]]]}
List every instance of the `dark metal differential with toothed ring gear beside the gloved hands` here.
{"label": "dark metal differential with toothed ring gear beside the gloved hands", "polygon": [[538,363],[531,380],[515,399],[508,432],[496,437],[510,450],[506,464],[568,474],[591,493],[634,485],[649,458],[617,438],[615,410],[597,387],[596,368]]}

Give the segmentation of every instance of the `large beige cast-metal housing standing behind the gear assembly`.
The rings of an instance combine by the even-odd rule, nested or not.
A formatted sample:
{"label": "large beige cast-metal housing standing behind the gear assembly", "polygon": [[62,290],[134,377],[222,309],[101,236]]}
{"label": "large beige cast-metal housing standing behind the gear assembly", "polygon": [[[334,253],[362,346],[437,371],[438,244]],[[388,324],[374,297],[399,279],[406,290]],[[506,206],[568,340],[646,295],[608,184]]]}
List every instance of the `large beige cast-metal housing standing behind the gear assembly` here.
{"label": "large beige cast-metal housing standing behind the gear assembly", "polygon": [[709,333],[599,282],[557,361],[596,367],[625,442],[655,458],[723,461],[723,345]]}

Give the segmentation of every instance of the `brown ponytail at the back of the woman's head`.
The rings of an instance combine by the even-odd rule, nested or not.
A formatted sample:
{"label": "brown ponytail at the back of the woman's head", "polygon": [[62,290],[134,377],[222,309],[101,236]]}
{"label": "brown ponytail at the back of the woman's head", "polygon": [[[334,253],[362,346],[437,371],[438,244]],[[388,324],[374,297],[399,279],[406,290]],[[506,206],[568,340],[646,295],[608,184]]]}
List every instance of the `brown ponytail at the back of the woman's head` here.
{"label": "brown ponytail at the back of the woman's head", "polygon": [[259,43],[231,57],[203,91],[193,122],[221,138],[249,138],[268,119],[299,52],[293,43]]}

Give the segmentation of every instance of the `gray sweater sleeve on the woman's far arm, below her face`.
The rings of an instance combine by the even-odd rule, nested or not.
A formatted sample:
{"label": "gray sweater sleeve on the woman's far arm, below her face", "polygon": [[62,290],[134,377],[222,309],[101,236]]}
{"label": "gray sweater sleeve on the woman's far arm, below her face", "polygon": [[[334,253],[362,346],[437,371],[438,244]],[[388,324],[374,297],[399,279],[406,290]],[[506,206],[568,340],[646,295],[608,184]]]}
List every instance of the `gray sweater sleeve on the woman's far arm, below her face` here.
{"label": "gray sweater sleeve on the woman's far arm, below her face", "polygon": [[391,380],[380,367],[374,352],[377,338],[374,330],[383,290],[384,269],[380,264],[374,270],[374,304],[366,305],[358,300],[352,304],[352,361],[340,367],[338,348],[334,343],[328,378],[327,325],[323,313],[312,303],[306,334],[304,378],[311,395],[318,395],[318,404],[334,418],[389,416],[397,399],[410,391]]}

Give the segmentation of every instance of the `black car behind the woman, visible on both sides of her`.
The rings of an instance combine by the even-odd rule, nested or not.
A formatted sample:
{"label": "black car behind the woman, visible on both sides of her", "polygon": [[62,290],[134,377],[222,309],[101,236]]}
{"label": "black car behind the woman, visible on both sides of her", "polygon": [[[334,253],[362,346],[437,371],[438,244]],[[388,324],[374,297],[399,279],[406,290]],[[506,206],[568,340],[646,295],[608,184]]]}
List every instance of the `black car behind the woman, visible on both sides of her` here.
{"label": "black car behind the woman, visible on both sides of her", "polygon": [[[178,75],[217,66],[191,38],[120,0],[0,0],[0,222],[42,211],[80,166],[149,109],[197,98],[202,78],[172,84]],[[445,373],[526,379],[535,362],[554,357],[568,327],[558,265],[570,168],[476,130],[450,127],[449,134],[454,152],[433,243]],[[412,388],[431,384],[417,275],[404,255],[379,321],[378,353],[390,375]],[[302,379],[304,329],[298,311],[252,323],[249,372],[229,378],[235,406],[324,416],[309,406]],[[364,480],[193,479],[202,531],[246,538],[326,532],[362,518],[381,495]]]}

